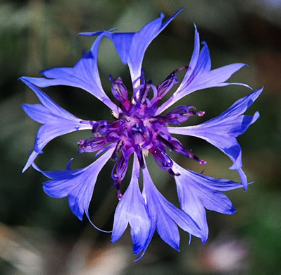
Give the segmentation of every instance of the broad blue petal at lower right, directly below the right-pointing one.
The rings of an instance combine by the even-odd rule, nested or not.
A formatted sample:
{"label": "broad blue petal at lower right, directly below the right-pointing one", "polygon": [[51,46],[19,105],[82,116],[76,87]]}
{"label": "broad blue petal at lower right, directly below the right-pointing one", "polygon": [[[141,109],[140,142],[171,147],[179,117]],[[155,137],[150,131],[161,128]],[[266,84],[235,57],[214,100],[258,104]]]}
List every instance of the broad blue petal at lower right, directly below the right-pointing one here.
{"label": "broad blue petal at lower right, directly below the right-pointing one", "polygon": [[232,203],[218,190],[232,190],[241,188],[243,185],[226,179],[204,176],[183,169],[175,161],[173,163],[173,171],[180,173],[180,176],[175,177],[180,206],[202,228],[204,234],[201,240],[205,243],[208,239],[205,208],[223,214],[234,214],[235,208]]}

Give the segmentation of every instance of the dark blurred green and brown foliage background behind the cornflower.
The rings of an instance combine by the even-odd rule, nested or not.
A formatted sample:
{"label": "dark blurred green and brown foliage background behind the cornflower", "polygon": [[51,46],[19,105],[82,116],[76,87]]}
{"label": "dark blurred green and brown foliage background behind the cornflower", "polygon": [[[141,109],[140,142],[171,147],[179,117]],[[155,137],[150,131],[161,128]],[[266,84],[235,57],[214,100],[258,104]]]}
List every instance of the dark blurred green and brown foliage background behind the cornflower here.
{"label": "dark blurred green and brown foliage background behind the cornflower", "polygon": [[[244,193],[229,192],[237,214],[208,212],[210,237],[205,245],[182,234],[181,252],[168,247],[158,236],[139,262],[132,255],[130,232],[118,243],[99,233],[89,222],[80,222],[68,208],[67,199],[44,194],[36,171],[21,173],[39,125],[24,114],[22,103],[37,99],[17,79],[39,76],[55,66],[73,66],[89,50],[94,38],[77,33],[139,30],[163,12],[167,16],[186,6],[146,51],[146,78],[157,84],[175,68],[187,65],[194,43],[196,23],[201,40],[211,51],[213,68],[243,62],[232,80],[265,90],[249,114],[261,118],[239,137],[249,181]],[[280,0],[30,0],[0,1],[0,273],[1,274],[280,274],[281,188]],[[110,91],[108,74],[119,75],[130,87],[128,70],[110,42],[99,52],[104,89]],[[72,87],[51,87],[48,94],[73,114],[98,120],[111,114],[87,92]],[[181,104],[206,111],[204,119],[217,116],[235,100],[249,93],[244,87],[220,87],[189,95]],[[202,119],[202,118],[200,118]],[[199,120],[192,118],[190,123]],[[57,138],[44,149],[37,163],[44,170],[63,169],[71,157],[73,168],[89,164],[91,154],[76,155],[76,141],[87,133]],[[230,161],[206,142],[184,138],[182,142],[208,164],[205,173],[239,180],[228,170]],[[200,171],[198,164],[182,159],[182,165]],[[150,161],[150,160],[149,160]],[[184,161],[186,161],[184,163]],[[152,161],[149,166],[153,166]],[[99,176],[90,207],[97,226],[110,230],[118,200],[111,182],[111,164]],[[161,192],[176,202],[175,185],[165,173],[152,175]],[[152,171],[152,170],[151,170]],[[124,181],[124,184],[126,181]],[[127,181],[128,182],[128,181]],[[125,189],[125,188],[124,188]],[[156,234],[157,235],[157,234]]]}

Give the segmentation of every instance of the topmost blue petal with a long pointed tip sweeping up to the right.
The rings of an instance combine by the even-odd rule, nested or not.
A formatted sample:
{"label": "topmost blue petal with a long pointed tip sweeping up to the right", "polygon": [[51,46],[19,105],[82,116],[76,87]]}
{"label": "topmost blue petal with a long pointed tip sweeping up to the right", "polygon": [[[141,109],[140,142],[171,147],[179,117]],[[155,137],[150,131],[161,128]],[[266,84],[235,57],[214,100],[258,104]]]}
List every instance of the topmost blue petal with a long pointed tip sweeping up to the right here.
{"label": "topmost blue petal with a long pointed tip sweeping up to the right", "polygon": [[[152,40],[159,35],[159,33],[165,29],[170,21],[173,20],[183,9],[184,8],[181,8],[164,23],[162,23],[164,15],[161,13],[159,18],[146,24],[142,30],[139,30],[139,32],[107,32],[105,34],[106,37],[112,40],[123,63],[128,64],[132,82],[135,84],[134,87],[137,87],[137,79],[141,75],[142,60],[144,59],[144,53],[147,47],[149,47]],[[98,35],[98,33],[81,33],[80,35],[90,36]]]}

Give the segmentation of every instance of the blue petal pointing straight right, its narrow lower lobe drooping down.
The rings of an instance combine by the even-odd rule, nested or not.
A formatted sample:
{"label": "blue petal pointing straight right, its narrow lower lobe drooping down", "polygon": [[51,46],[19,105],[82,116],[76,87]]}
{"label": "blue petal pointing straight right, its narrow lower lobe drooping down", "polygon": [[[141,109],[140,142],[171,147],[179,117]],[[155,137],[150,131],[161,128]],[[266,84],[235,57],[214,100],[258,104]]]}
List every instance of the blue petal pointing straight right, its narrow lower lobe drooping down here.
{"label": "blue petal pointing straight right, its narrow lower lobe drooping down", "polygon": [[202,138],[218,147],[218,149],[227,154],[233,161],[230,169],[238,171],[244,189],[246,190],[248,183],[246,175],[242,171],[242,150],[236,138],[238,135],[244,133],[258,119],[258,112],[254,116],[244,116],[242,114],[253,104],[262,91],[263,88],[239,99],[227,111],[210,121],[197,126],[169,127],[168,130],[174,134],[192,135]]}

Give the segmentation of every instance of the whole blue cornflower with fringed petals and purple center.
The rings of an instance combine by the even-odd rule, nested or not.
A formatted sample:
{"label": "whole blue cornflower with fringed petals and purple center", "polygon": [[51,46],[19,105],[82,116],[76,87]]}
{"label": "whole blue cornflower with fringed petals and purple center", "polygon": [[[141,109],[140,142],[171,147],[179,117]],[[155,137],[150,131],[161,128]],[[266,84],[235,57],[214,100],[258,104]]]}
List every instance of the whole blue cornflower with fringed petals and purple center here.
{"label": "whole blue cornflower with fringed petals and purple center", "polygon": [[[197,90],[225,85],[249,87],[244,83],[226,82],[245,64],[234,63],[212,70],[208,46],[206,42],[202,42],[203,47],[200,47],[199,33],[195,26],[194,51],[189,65],[176,69],[157,86],[144,77],[142,60],[147,47],[180,11],[164,22],[164,16],[161,14],[139,32],[82,33],[80,35],[97,38],[90,51],[84,54],[73,68],[52,68],[42,71],[44,78],[20,78],[35,92],[42,103],[23,104],[27,115],[42,124],[35,139],[34,151],[30,154],[23,171],[33,166],[43,173],[50,179],[43,183],[44,192],[51,197],[68,197],[73,214],[82,220],[84,214],[89,219],[89,204],[99,172],[109,159],[115,161],[112,178],[119,202],[115,209],[111,240],[117,241],[130,225],[134,253],[140,254],[139,258],[144,255],[155,231],[175,250],[179,250],[180,245],[178,227],[187,231],[189,236],[201,238],[205,243],[208,238],[205,209],[223,214],[235,213],[232,203],[221,191],[241,187],[246,190],[248,185],[242,170],[241,147],[236,138],[258,119],[258,112],[254,116],[246,116],[244,112],[261,94],[262,88],[239,99],[220,116],[197,126],[180,126],[191,116],[204,116],[204,111],[196,111],[193,105],[177,106],[166,111],[182,97]],[[109,99],[99,78],[97,56],[103,37],[113,42],[120,59],[130,69],[132,95],[121,78],[114,79],[109,75],[111,92],[119,106]],[[182,82],[163,102],[163,97],[179,83],[177,73],[180,71],[185,71]],[[91,93],[111,109],[115,120],[84,121],[70,114],[39,90],[39,87],[54,85],[80,87]],[[164,111],[166,112],[163,113]],[[76,130],[92,131],[89,138],[79,140],[77,144],[80,153],[95,152],[96,160],[89,166],[77,170],[70,169],[71,161],[63,171],[39,169],[34,161],[38,154],[43,153],[46,144],[60,135]],[[237,170],[242,183],[212,178],[182,168],[169,157],[168,151],[194,159],[199,164],[206,164],[206,161],[185,149],[172,134],[191,135],[218,147],[230,157],[233,162],[230,169]],[[175,178],[180,209],[168,202],[154,185],[145,161],[149,153],[161,169]],[[127,173],[130,159],[133,159],[132,178],[123,193],[121,183]],[[142,191],[139,188],[139,171],[142,171]]]}

